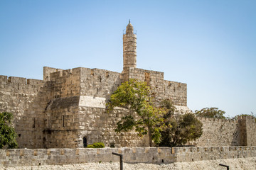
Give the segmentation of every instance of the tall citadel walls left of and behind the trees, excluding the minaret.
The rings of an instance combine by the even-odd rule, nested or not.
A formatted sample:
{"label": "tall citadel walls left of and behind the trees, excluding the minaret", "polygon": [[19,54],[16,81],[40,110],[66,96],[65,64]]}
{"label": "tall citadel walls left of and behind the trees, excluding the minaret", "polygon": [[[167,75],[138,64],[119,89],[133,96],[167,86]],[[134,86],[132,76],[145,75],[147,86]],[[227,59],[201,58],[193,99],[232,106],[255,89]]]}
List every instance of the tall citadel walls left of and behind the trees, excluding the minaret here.
{"label": "tall citadel walls left of and behind the trees, excluding the minaret", "polygon": [[[148,82],[159,101],[174,98],[177,106],[186,106],[186,84],[165,81],[161,72],[135,71],[130,71],[129,78]],[[141,139],[134,132],[115,135],[115,125],[126,111],[110,115],[105,111],[105,103],[123,77],[127,75],[82,67],[44,67],[43,80],[1,76],[0,111],[14,113],[21,148],[82,147],[84,137],[88,144],[102,141],[145,147],[146,137]]]}

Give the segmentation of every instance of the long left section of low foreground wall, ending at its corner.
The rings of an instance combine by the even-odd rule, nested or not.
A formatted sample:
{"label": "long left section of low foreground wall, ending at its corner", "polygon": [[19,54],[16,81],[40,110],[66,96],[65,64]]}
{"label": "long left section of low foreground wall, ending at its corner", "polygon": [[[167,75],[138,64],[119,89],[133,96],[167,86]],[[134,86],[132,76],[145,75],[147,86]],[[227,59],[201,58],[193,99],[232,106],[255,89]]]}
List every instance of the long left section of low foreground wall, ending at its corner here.
{"label": "long left section of low foreground wall, ending at its corner", "polygon": [[77,149],[1,149],[3,166],[33,166],[53,164],[83,164],[87,162],[119,162],[116,152],[124,155],[124,162],[173,162],[171,148],[77,148]]}

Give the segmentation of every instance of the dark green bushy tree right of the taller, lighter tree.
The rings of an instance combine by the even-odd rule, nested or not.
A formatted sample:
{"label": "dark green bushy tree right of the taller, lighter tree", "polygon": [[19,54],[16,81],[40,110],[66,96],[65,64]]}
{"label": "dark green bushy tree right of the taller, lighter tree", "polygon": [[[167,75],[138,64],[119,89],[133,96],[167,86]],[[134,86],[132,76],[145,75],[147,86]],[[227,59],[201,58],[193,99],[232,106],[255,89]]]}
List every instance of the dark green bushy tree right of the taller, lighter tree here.
{"label": "dark green bushy tree right of the taller, lighter tree", "polygon": [[174,115],[175,106],[169,100],[162,102],[166,109],[164,115],[164,130],[161,131],[160,147],[176,147],[185,145],[186,142],[196,140],[203,134],[203,124],[193,113]]}

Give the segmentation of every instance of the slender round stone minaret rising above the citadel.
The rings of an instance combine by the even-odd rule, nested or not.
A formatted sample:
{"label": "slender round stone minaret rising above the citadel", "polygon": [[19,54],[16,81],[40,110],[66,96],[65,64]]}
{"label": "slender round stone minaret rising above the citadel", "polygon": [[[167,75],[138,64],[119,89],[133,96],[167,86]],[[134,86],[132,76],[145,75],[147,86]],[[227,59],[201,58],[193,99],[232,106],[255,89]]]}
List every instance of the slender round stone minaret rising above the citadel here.
{"label": "slender round stone minaret rising above the citadel", "polygon": [[123,35],[123,57],[124,68],[137,66],[137,35],[134,34],[134,28],[129,21],[125,34]]}

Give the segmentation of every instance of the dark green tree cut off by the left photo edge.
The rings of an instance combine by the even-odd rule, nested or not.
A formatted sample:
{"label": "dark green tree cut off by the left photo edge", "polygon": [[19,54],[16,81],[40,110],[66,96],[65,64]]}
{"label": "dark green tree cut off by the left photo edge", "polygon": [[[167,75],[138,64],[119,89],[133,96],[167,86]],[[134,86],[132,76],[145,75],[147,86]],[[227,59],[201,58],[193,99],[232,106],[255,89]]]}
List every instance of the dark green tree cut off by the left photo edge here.
{"label": "dark green tree cut off by the left photo edge", "polygon": [[9,149],[18,147],[16,142],[17,134],[14,128],[11,127],[12,118],[13,115],[11,113],[0,113],[0,149],[5,146]]}

